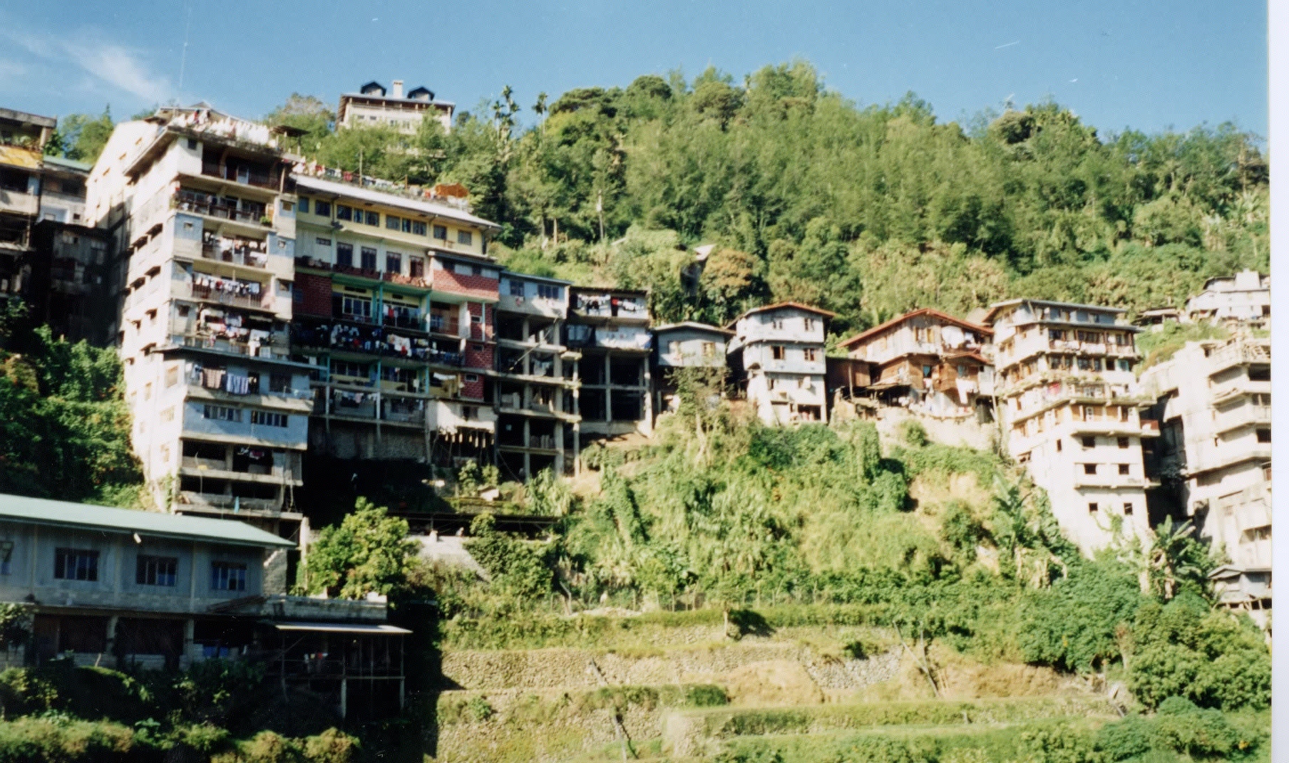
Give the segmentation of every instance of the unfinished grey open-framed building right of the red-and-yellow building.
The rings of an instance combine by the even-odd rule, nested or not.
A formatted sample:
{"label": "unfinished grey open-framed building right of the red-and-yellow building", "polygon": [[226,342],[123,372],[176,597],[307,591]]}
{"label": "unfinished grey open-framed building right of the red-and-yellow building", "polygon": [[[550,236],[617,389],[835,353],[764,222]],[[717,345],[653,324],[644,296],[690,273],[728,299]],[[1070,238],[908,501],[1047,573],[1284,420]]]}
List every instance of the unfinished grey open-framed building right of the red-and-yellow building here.
{"label": "unfinished grey open-framed building right of the red-and-yellow building", "polygon": [[501,273],[496,317],[496,447],[503,476],[576,470],[581,353],[565,342],[568,281]]}

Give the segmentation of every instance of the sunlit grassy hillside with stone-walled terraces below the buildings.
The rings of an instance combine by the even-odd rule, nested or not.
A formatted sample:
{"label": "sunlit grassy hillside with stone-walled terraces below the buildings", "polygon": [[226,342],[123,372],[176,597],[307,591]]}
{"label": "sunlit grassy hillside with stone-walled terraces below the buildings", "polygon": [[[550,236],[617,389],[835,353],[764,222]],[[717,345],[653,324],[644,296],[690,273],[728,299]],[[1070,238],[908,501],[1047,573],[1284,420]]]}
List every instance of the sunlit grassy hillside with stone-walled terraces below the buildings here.
{"label": "sunlit grassy hillside with stone-walled terraces below the buildings", "polygon": [[1210,610],[1194,541],[1084,559],[1012,467],[914,423],[690,398],[592,463],[530,492],[566,507],[544,540],[476,523],[490,581],[418,574],[436,759],[1267,759],[1266,644]]}

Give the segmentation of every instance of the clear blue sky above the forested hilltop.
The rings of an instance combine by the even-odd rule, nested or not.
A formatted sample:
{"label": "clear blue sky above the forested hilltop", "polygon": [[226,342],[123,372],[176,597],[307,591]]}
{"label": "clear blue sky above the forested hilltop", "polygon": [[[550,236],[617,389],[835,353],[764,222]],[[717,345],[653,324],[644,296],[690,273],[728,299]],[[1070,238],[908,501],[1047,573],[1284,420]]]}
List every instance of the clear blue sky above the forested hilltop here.
{"label": "clear blue sky above the forested hilltop", "polygon": [[258,117],[402,79],[467,110],[509,84],[531,120],[543,90],[794,57],[861,104],[914,90],[941,121],[1051,97],[1102,133],[1267,133],[1265,3],[0,3],[0,106],[50,116],[177,98]]}

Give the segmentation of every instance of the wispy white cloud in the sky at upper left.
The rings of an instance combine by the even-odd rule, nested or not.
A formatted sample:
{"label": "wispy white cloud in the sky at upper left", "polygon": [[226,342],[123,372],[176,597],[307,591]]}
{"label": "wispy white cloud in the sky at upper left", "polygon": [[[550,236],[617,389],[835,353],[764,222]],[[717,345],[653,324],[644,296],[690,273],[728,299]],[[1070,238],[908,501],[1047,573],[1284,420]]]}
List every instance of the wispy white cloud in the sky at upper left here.
{"label": "wispy white cloud in the sky at upper left", "polygon": [[[160,103],[174,94],[170,80],[151,71],[138,50],[124,48],[102,39],[101,34],[85,31],[68,36],[19,32],[0,32],[32,55],[49,63],[71,63],[101,82],[124,90],[141,101]],[[8,73],[0,62],[0,77]]]}

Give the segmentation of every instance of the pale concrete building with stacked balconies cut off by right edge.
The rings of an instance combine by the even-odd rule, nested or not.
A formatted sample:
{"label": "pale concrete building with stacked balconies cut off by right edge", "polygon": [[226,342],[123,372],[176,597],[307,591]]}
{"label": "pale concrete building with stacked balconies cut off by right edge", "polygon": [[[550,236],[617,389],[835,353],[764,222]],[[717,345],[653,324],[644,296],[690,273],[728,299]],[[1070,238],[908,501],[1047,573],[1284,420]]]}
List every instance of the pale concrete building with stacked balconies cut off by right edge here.
{"label": "pale concrete building with stacked balconies cut off by right edge", "polygon": [[[1259,318],[1261,320],[1261,318]],[[1190,342],[1146,369],[1161,437],[1152,472],[1200,535],[1222,546],[1223,603],[1266,624],[1271,608],[1271,340]]]}

